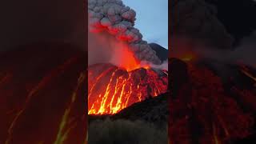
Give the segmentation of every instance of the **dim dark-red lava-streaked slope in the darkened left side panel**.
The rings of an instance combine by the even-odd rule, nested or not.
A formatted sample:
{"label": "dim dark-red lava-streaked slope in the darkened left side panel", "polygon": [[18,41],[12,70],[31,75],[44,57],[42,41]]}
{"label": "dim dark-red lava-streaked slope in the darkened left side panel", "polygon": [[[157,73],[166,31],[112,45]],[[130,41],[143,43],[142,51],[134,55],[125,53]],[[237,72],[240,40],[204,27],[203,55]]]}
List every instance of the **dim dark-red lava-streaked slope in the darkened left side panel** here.
{"label": "dim dark-red lava-streaked slope in the darkened left side panel", "polygon": [[0,54],[0,143],[86,141],[86,65],[66,44],[22,46]]}

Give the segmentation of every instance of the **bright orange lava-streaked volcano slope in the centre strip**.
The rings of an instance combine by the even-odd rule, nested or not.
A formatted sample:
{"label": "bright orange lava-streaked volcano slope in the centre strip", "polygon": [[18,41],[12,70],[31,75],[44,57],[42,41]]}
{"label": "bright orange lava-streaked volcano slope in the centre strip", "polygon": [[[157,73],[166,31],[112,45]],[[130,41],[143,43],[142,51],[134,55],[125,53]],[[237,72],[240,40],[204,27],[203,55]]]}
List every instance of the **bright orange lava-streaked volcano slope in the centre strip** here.
{"label": "bright orange lava-streaked volcano slope in the centre strip", "polygon": [[89,68],[89,114],[116,114],[118,111],[167,90],[167,75],[154,70],[127,71],[109,64]]}

